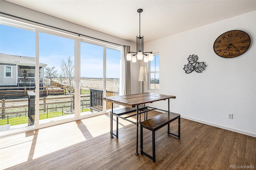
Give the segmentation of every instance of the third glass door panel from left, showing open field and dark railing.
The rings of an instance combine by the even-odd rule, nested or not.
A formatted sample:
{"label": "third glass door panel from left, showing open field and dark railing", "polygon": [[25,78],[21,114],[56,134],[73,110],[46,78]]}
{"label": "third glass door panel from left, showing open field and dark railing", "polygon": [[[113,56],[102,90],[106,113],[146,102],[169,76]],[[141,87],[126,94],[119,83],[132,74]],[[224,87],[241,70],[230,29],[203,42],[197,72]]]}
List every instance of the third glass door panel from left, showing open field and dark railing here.
{"label": "third glass door panel from left, showing open field and dark railing", "polygon": [[103,106],[104,47],[80,43],[81,116],[101,112]]}

